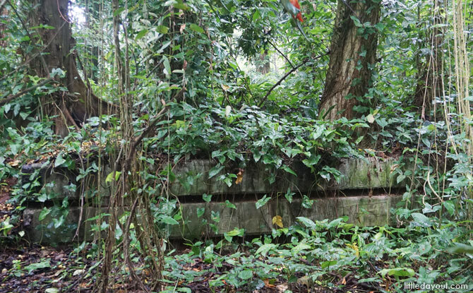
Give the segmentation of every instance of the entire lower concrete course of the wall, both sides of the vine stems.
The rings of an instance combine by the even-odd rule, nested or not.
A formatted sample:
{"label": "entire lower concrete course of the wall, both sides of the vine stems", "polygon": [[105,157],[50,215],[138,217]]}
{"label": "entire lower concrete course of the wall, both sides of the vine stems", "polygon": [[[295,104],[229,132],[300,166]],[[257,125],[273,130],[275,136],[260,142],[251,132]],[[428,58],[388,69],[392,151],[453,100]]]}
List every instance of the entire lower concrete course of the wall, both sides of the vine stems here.
{"label": "entire lower concrete course of the wall, both sides of the vine stems", "polygon": [[[256,201],[243,201],[234,203],[236,208],[229,208],[225,203],[184,203],[181,204],[184,224],[167,227],[167,232],[172,239],[201,239],[215,237],[232,231],[234,228],[244,228],[245,234],[259,235],[270,233],[273,228],[273,217],[280,215],[285,227],[293,225],[297,217],[307,217],[315,220],[334,220],[347,215],[349,222],[361,226],[388,225],[389,210],[400,201],[402,196],[351,196],[339,198],[318,198],[311,208],[302,208],[301,199],[289,203],[285,199],[273,198],[263,207],[257,209]],[[198,209],[205,209],[198,217]],[[95,217],[99,213],[106,213],[106,208],[84,208],[83,221]],[[35,243],[65,243],[73,239],[79,219],[80,208],[71,208],[66,217],[65,224],[54,228],[52,217],[48,215],[40,221],[40,208],[27,208],[23,213],[25,231],[32,242]],[[219,220],[215,221],[215,215]],[[103,217],[107,221],[107,217]],[[83,222],[80,229],[79,240],[92,239],[91,225],[95,221]],[[217,227],[212,230],[210,224]]]}

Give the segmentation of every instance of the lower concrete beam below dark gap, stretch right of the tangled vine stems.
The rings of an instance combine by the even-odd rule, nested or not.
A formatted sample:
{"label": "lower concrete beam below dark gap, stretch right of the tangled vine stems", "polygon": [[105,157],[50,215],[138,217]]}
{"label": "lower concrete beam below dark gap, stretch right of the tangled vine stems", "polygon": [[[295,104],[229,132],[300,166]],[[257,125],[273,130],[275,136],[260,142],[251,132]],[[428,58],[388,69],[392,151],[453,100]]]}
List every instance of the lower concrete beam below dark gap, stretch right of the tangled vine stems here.
{"label": "lower concrete beam below dark gap, stretch right of the tangled vine stems", "polygon": [[[182,205],[185,224],[172,227],[172,238],[198,239],[204,236],[219,236],[234,228],[244,228],[246,235],[270,233],[273,217],[280,215],[285,227],[294,225],[297,217],[315,220],[334,220],[348,216],[348,222],[361,226],[383,226],[390,224],[390,208],[402,199],[399,195],[350,196],[339,198],[317,198],[311,208],[302,208],[301,199],[289,203],[285,199],[269,201],[262,208],[256,208],[256,201],[235,203],[236,209],[228,208],[224,203],[184,203]],[[205,214],[198,217],[196,210],[205,208]],[[220,222],[212,222],[211,211],[220,213]],[[218,227],[212,232],[205,222]]]}

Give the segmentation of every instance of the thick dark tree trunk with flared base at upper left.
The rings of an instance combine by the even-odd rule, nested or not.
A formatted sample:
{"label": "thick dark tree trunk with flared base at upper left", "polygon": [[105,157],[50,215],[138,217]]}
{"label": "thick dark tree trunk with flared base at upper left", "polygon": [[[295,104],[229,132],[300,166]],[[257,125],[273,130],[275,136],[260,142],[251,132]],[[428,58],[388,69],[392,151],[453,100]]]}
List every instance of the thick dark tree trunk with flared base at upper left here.
{"label": "thick dark tree trunk with flared base at upper left", "polygon": [[61,68],[66,76],[59,80],[68,92],[54,92],[44,97],[42,104],[49,116],[55,115],[54,127],[59,136],[66,136],[68,126],[78,126],[90,116],[115,112],[112,104],[100,100],[87,88],[76,68],[76,52],[68,19],[68,0],[37,0],[29,25],[47,25],[52,28],[37,29],[37,44],[47,46],[42,58],[37,57],[30,68],[37,76],[48,77],[54,68]]}

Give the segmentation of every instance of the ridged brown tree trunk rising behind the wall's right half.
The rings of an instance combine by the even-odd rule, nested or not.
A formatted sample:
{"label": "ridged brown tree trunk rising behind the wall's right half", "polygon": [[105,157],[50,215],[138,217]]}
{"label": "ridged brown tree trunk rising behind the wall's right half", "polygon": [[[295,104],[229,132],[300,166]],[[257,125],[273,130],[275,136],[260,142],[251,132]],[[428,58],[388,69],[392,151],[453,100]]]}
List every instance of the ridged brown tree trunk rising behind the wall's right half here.
{"label": "ridged brown tree trunk rising behind the wall's right half", "polygon": [[[352,20],[358,18],[358,26]],[[330,61],[321,97],[321,115],[334,120],[353,118],[357,105],[371,86],[378,37],[373,25],[380,18],[378,0],[338,0],[330,43]],[[364,25],[371,23],[371,25]]]}

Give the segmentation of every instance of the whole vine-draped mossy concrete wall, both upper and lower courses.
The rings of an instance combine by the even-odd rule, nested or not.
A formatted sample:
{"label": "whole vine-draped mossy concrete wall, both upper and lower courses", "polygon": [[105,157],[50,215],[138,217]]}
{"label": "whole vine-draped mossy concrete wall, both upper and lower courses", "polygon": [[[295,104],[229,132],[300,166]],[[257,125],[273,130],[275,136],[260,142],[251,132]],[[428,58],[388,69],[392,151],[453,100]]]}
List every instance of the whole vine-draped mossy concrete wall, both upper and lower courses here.
{"label": "whole vine-draped mossy concrete wall, both upper and lower courses", "polygon": [[[222,169],[220,174],[208,178],[208,172],[215,165],[211,160],[190,160],[181,162],[173,172],[177,180],[170,186],[170,192],[181,198],[183,220],[180,225],[168,227],[168,233],[174,239],[198,239],[200,237],[215,237],[229,232],[234,228],[244,228],[246,235],[270,233],[273,228],[272,219],[275,215],[282,217],[285,227],[294,224],[297,217],[308,217],[311,220],[333,220],[337,217],[348,216],[349,222],[361,226],[388,225],[390,223],[390,208],[395,207],[402,196],[400,190],[405,181],[397,183],[393,169],[395,159],[386,160],[351,159],[341,160],[337,170],[342,174],[339,182],[327,182],[316,179],[300,162],[290,167],[298,174],[295,177],[287,172],[277,173],[276,181],[270,184],[268,178],[271,170],[263,164],[247,166],[244,170],[241,184],[227,186],[219,181],[220,174],[236,173],[234,168]],[[53,169],[39,165],[26,168],[41,168],[42,184],[54,183],[47,192],[56,193],[56,198],[68,197],[71,202],[77,200],[80,188],[71,191],[70,184],[80,186],[76,181],[76,174],[69,170]],[[105,167],[103,174],[108,174]],[[187,180],[190,177],[193,180]],[[25,178],[26,179],[26,178]],[[87,181],[97,181],[97,175],[88,177]],[[183,184],[186,182],[186,184]],[[96,185],[95,185],[96,186]],[[289,203],[284,196],[287,189],[296,193],[294,200]],[[101,203],[95,206],[85,206],[83,220],[100,213],[107,213],[107,198],[109,186],[102,179],[102,186],[98,189],[102,198]],[[212,194],[210,203],[202,201],[203,193]],[[257,209],[256,201],[263,195],[270,196],[271,200]],[[310,208],[301,205],[302,195],[313,200]],[[187,201],[186,198],[192,198]],[[228,200],[236,208],[229,208],[224,202]],[[75,201],[78,202],[78,201]],[[126,209],[126,207],[123,207]],[[205,209],[205,213],[198,217],[197,210]],[[69,208],[66,225],[54,228],[52,218],[48,215],[39,220],[42,207],[35,203],[34,207],[24,211],[25,231],[33,242],[68,242],[73,238],[75,227],[80,214],[79,207]],[[210,221],[211,211],[220,213],[220,222],[215,223],[218,232],[212,232],[203,220]],[[105,219],[106,220],[106,219]],[[90,221],[85,222],[80,230],[81,239],[91,239]]]}

